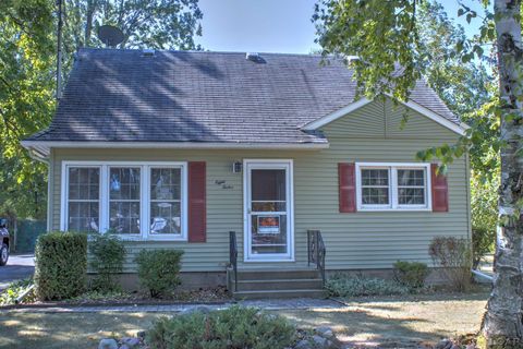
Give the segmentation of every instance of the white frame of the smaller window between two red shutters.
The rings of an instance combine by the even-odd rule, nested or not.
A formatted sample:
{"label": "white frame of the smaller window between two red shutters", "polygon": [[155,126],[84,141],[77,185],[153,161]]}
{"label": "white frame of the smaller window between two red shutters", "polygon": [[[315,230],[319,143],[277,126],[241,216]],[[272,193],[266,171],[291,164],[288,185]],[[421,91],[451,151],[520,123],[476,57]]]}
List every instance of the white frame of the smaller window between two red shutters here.
{"label": "white frame of the smaller window between two red shutters", "polygon": [[[389,170],[389,204],[366,205],[362,203],[362,169]],[[425,170],[425,204],[400,205],[398,203],[398,170]],[[428,163],[356,163],[356,203],[357,210],[433,210],[430,164]]]}

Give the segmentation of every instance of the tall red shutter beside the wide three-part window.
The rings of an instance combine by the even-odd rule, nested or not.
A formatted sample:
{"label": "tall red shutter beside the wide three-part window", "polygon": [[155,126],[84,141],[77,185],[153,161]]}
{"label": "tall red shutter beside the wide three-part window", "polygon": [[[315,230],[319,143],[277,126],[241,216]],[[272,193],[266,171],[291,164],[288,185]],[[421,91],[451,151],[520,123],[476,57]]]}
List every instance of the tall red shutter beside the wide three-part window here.
{"label": "tall red shutter beside the wide three-part window", "polygon": [[188,163],[188,242],[205,242],[207,231],[204,161]]}

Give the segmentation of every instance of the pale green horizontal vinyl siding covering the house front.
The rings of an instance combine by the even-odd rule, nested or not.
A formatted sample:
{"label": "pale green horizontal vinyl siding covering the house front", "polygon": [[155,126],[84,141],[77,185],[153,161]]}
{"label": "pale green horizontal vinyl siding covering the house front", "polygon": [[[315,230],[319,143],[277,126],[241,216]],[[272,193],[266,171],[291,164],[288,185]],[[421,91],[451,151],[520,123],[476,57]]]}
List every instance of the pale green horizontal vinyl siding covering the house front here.
{"label": "pale green horizontal vinyl siding covering the house front", "polygon": [[[321,230],[329,269],[390,268],[398,260],[429,263],[427,248],[435,236],[469,236],[465,157],[449,167],[448,213],[339,213],[338,163],[412,163],[417,151],[458,139],[457,134],[414,111],[408,122],[408,125],[412,122],[410,129],[394,132],[393,136],[390,133],[388,137],[385,133],[378,136],[377,130],[390,130],[385,125],[386,119],[393,116],[390,108],[392,105],[388,107],[387,103],[375,101],[326,125],[323,131],[329,139],[330,147],[321,151],[54,149],[50,196],[52,228],[60,228],[62,160],[206,161],[207,242],[126,242],[130,253],[125,270],[135,269],[134,255],[141,249],[156,248],[183,249],[185,272],[224,270],[229,261],[230,230],[238,232],[239,258],[243,260],[243,173],[233,173],[232,163],[257,158],[293,159],[295,263],[307,261],[307,229]],[[379,110],[381,116],[385,110],[387,118],[376,116]],[[356,132],[356,123],[348,121],[352,118],[360,118],[357,128],[365,129],[368,124],[368,129]],[[427,130],[431,130],[429,136]],[[226,181],[227,185],[222,185],[221,181]]]}

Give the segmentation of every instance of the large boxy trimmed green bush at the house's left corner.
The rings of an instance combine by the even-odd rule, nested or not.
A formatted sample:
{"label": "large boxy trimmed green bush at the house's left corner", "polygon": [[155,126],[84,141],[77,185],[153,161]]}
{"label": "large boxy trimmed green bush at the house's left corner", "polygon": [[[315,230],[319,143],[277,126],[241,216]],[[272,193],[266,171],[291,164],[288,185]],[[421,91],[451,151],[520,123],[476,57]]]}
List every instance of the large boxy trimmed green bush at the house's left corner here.
{"label": "large boxy trimmed green bush at the house's left corner", "polygon": [[61,300],[82,294],[87,275],[87,236],[48,232],[38,237],[35,249],[37,299]]}

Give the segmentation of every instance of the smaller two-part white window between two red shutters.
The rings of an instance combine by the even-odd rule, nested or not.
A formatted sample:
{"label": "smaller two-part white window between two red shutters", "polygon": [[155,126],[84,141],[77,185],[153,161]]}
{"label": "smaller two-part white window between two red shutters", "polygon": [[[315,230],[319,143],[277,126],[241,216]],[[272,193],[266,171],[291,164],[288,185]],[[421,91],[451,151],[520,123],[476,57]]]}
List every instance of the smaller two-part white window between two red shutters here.
{"label": "smaller two-part white window between two red shutters", "polygon": [[429,164],[356,164],[358,210],[430,209]]}

